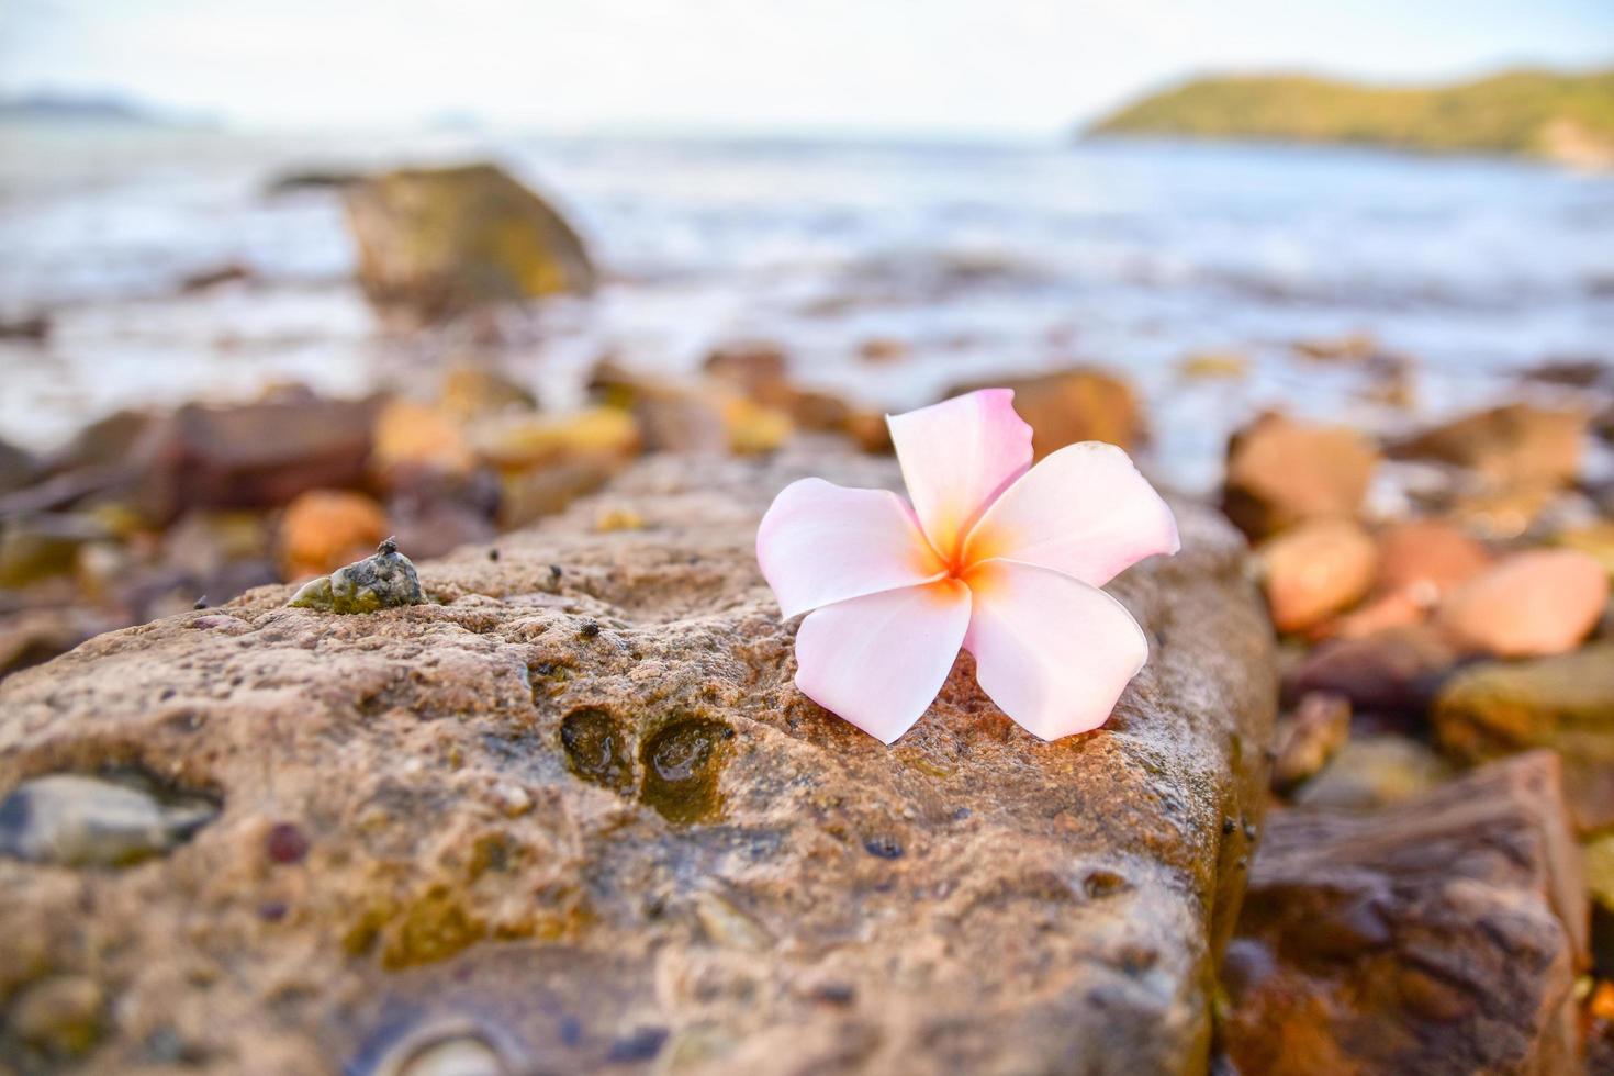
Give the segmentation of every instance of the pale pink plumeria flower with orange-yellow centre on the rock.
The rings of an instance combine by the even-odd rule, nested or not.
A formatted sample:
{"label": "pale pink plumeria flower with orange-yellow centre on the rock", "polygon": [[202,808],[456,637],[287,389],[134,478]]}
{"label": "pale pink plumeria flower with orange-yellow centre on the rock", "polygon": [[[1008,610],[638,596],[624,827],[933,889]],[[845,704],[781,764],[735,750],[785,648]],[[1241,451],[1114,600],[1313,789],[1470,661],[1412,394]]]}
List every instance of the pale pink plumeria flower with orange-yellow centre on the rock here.
{"label": "pale pink plumeria flower with orange-yellow centre on the rock", "polygon": [[912,503],[818,478],[762,518],[757,561],[796,634],[796,686],[891,744],[959,649],[997,707],[1046,740],[1104,724],[1149,657],[1102,587],[1178,550],[1177,519],[1125,452],[1068,445],[1031,466],[1010,389],[888,416]]}

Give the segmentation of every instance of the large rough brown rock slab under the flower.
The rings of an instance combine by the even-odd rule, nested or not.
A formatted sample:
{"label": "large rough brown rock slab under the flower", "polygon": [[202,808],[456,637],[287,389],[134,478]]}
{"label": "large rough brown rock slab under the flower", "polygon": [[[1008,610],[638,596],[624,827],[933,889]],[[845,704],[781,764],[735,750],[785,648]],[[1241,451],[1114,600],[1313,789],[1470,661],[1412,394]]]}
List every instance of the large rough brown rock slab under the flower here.
{"label": "large rough brown rock slab under the flower", "polygon": [[792,687],[755,568],[809,473],[897,481],[655,460],[497,560],[421,565],[428,605],[270,587],[5,681],[0,795],[139,771],[218,815],[134,866],[0,858],[0,999],[105,999],[89,1044],[0,1057],[1202,1071],[1275,700],[1243,540],[1178,505],[1183,553],[1112,587],[1152,657],[1104,729],[1036,740],[965,655],[886,749]]}

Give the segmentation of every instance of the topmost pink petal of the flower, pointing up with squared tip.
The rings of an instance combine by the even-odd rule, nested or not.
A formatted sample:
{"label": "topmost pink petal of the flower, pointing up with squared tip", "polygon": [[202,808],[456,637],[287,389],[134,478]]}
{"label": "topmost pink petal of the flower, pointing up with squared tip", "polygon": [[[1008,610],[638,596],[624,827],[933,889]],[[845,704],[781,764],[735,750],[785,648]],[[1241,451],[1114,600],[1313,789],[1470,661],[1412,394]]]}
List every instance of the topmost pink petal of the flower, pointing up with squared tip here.
{"label": "topmost pink petal of the flower, pointing up with squared tip", "polygon": [[981,389],[907,415],[886,416],[918,521],[943,557],[1031,466],[1031,427],[1012,389]]}

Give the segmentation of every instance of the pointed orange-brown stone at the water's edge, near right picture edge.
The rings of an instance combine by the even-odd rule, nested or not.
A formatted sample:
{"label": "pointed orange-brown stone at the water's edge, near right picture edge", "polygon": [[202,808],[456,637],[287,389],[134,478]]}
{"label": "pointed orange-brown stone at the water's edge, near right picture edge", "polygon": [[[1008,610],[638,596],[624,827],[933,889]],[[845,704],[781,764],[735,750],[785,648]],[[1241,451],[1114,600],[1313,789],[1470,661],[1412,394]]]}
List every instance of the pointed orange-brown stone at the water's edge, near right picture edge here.
{"label": "pointed orange-brown stone at the water's edge, near right picture edge", "polygon": [[1507,403],[1453,419],[1394,445],[1404,460],[1440,460],[1511,486],[1566,486],[1580,474],[1587,415]]}

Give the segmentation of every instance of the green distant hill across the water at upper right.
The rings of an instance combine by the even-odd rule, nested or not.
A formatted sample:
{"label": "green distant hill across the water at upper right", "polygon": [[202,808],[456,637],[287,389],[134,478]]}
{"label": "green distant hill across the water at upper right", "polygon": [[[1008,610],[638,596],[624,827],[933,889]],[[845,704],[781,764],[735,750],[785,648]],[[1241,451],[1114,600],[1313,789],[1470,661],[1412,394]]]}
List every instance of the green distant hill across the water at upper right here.
{"label": "green distant hill across the water at upper right", "polygon": [[1443,87],[1207,77],[1144,97],[1086,134],[1346,142],[1614,168],[1614,71],[1509,71]]}

